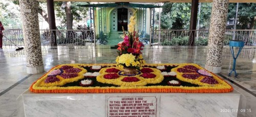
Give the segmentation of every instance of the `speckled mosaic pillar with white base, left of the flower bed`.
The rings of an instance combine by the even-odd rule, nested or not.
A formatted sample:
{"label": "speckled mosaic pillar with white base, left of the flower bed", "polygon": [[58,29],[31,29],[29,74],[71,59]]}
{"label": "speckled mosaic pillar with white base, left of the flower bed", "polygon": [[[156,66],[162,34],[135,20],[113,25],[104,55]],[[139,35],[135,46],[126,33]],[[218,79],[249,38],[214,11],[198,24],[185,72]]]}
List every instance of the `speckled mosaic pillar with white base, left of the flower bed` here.
{"label": "speckled mosaic pillar with white base, left of the flower bed", "polygon": [[35,0],[19,0],[19,7],[22,15],[23,36],[27,53],[27,73],[44,72],[37,15],[38,2]]}

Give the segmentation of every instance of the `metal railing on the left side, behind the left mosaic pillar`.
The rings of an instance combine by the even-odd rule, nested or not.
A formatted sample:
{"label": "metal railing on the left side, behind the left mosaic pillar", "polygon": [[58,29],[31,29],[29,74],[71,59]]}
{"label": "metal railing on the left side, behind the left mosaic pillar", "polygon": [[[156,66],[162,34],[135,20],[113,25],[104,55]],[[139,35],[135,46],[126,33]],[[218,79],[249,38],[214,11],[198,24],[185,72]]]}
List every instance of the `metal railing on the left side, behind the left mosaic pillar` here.
{"label": "metal railing on the left side, behind the left mosaic pillar", "polygon": [[[14,47],[14,44],[24,46],[22,30],[4,30],[3,34],[3,47]],[[94,30],[40,30],[40,43],[43,47],[54,46],[54,44],[57,46],[87,46],[95,42]]]}

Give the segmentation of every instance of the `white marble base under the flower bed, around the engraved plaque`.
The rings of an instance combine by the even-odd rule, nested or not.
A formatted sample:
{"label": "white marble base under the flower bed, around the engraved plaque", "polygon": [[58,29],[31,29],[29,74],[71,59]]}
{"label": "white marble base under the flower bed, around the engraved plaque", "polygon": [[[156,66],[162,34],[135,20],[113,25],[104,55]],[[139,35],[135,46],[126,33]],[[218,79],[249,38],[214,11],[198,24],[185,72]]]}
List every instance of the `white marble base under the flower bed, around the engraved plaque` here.
{"label": "white marble base under the flower bed, around the engraved plaque", "polygon": [[[17,99],[18,116],[108,116],[110,97],[156,97],[153,116],[237,116],[239,93],[105,93],[35,94],[26,91]],[[224,111],[223,111],[224,110]],[[222,112],[223,111],[223,112]],[[238,110],[239,111],[239,110]]]}

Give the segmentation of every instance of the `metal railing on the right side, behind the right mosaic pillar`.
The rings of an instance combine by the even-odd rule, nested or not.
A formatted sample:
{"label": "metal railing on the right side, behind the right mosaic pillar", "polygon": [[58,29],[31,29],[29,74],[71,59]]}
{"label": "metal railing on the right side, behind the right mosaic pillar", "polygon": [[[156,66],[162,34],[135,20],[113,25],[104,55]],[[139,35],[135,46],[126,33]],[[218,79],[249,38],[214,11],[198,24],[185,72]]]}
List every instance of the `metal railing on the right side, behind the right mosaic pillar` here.
{"label": "metal railing on the right side, behind the right mosaic pillar", "polygon": [[[189,46],[189,38],[193,37],[195,46],[208,45],[209,30],[151,30],[151,33],[148,39],[151,45]],[[229,40],[242,40],[247,46],[255,46],[256,30],[226,30],[223,45],[229,45]]]}

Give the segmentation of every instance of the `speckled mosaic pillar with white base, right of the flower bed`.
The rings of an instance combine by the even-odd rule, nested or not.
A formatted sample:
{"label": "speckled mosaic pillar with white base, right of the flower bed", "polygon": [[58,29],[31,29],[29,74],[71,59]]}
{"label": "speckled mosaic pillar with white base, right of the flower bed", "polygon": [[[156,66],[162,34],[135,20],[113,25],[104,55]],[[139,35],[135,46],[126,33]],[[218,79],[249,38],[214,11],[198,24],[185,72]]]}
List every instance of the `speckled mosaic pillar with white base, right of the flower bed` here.
{"label": "speckled mosaic pillar with white base, right of the flower bed", "polygon": [[213,73],[221,72],[228,3],[228,0],[214,0],[212,2],[205,69]]}

